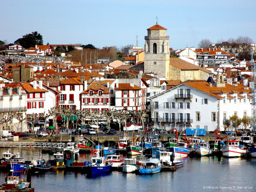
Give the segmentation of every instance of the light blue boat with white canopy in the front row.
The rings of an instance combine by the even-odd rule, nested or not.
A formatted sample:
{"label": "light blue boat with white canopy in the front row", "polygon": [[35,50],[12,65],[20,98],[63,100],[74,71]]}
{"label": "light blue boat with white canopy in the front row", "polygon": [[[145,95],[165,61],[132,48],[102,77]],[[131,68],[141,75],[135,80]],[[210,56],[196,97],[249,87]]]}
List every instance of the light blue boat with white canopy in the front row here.
{"label": "light blue boat with white canopy in the front row", "polygon": [[162,164],[159,159],[150,158],[141,162],[139,172],[141,174],[154,174],[161,171]]}

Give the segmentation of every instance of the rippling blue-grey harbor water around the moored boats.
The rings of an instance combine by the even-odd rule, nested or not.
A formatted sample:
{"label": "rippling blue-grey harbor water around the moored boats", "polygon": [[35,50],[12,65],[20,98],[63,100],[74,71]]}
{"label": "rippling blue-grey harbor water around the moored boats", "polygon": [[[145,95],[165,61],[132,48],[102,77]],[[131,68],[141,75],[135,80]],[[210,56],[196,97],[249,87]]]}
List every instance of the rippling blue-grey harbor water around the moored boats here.
{"label": "rippling blue-grey harbor water around the moored boats", "polygon": [[[0,148],[0,154],[8,148]],[[19,152],[19,148],[12,148]],[[21,149],[25,161],[53,159],[40,149]],[[92,155],[79,154],[79,161],[90,161]],[[0,182],[8,172],[0,172]],[[184,166],[175,172],[154,175],[123,174],[113,171],[88,177],[82,172],[50,171],[31,177],[35,192],[178,192],[178,191],[256,191],[256,159],[201,157],[185,158]]]}

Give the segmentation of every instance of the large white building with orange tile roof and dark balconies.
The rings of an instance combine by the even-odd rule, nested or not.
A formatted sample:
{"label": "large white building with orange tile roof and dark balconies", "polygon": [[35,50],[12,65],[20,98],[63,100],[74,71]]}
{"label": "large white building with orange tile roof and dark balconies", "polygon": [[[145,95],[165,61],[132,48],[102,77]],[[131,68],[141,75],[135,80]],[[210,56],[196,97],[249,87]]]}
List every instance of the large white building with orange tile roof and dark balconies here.
{"label": "large white building with orange tile roof and dark balconies", "polygon": [[190,80],[149,98],[151,118],[161,121],[167,130],[224,131],[230,116],[251,116],[251,89],[224,83],[222,75],[218,82],[213,85]]}

